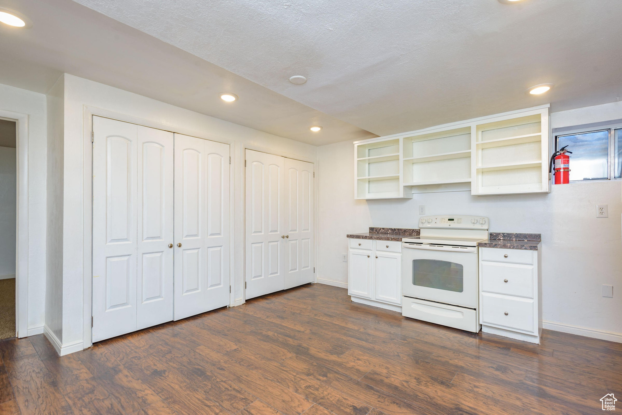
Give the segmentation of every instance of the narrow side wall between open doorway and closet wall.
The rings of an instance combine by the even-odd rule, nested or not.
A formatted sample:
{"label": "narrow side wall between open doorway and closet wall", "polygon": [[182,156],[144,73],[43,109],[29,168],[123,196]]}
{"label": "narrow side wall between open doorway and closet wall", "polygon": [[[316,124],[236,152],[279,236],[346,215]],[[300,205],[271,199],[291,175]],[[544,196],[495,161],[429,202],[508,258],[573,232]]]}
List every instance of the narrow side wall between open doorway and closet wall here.
{"label": "narrow side wall between open doorway and closet wall", "polygon": [[58,342],[63,339],[63,140],[64,75],[47,93],[47,251],[45,325]]}

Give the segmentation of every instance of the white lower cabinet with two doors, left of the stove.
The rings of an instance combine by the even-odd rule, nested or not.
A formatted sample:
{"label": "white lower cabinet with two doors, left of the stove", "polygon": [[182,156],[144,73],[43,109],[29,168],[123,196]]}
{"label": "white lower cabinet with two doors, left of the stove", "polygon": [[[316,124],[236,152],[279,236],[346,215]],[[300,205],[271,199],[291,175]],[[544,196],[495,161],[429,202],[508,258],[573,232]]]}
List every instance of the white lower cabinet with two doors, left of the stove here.
{"label": "white lower cabinet with two doors, left of the stove", "polygon": [[351,239],[349,245],[348,294],[352,301],[401,310],[401,243]]}

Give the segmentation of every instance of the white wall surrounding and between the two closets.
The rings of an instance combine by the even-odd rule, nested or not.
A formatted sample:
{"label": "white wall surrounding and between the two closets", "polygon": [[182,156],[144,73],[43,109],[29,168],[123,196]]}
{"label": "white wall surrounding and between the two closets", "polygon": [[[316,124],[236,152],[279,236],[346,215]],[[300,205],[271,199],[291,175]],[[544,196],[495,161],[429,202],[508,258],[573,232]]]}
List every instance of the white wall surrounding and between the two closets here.
{"label": "white wall surrounding and between the two closets", "polygon": [[119,90],[73,75],[64,75],[64,141],[62,159],[62,343],[74,344],[83,338],[83,202],[84,194],[84,111],[85,106],[114,111],[171,128],[196,131],[218,141],[234,142],[234,223],[235,267],[232,277],[235,299],[243,301],[243,169],[244,146],[261,147],[288,157],[315,162],[317,147],[252,128],[223,121],[173,105]]}

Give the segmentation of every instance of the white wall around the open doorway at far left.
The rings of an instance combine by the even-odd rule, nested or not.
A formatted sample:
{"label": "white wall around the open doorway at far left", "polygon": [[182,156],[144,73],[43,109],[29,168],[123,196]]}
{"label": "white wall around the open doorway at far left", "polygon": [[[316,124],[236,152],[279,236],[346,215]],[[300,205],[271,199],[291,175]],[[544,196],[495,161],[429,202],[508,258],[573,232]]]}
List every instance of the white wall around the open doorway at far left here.
{"label": "white wall around the open doorway at far left", "polygon": [[45,315],[45,95],[0,84],[0,110],[28,114],[28,333]]}

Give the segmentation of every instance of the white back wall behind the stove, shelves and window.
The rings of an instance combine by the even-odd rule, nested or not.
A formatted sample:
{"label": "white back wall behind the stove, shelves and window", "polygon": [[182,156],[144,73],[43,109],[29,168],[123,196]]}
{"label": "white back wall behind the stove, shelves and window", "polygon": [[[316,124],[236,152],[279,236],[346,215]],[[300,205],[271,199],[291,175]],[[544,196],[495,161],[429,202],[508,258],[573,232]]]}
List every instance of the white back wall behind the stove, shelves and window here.
{"label": "white back wall behind the stove, shelves and window", "polygon": [[[613,103],[554,113],[551,123],[560,128],[620,118],[622,103]],[[558,185],[539,195],[467,191],[361,201],[354,199],[353,153],[350,141],[318,147],[318,282],[347,283],[347,264],[341,261],[347,233],[369,226],[416,228],[419,205],[429,215],[483,215],[490,217],[493,232],[542,234],[542,308],[549,328],[622,341],[620,180]],[[596,218],[596,204],[609,205],[608,218]],[[613,298],[602,297],[602,284],[617,287]]]}

